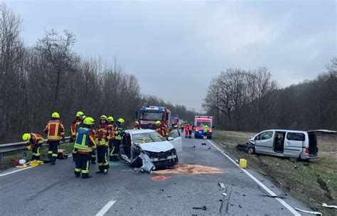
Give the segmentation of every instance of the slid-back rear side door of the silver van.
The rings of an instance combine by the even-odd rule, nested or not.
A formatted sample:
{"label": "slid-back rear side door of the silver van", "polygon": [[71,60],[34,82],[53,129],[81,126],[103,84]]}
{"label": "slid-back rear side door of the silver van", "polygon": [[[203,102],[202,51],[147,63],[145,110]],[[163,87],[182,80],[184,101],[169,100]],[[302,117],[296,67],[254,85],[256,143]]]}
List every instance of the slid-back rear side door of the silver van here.
{"label": "slid-back rear side door of the silver van", "polygon": [[303,132],[287,132],[284,139],[284,156],[298,158],[304,141],[306,141],[306,136]]}

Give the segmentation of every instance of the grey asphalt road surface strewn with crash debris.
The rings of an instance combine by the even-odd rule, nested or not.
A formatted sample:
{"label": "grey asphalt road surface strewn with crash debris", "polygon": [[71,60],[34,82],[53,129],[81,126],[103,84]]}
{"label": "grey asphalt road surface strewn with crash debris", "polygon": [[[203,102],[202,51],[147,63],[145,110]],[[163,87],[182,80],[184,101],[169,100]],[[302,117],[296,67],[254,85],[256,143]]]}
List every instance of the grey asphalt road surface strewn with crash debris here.
{"label": "grey asphalt road surface strewn with crash debris", "polygon": [[[183,152],[178,156],[189,174],[137,173],[119,161],[110,162],[108,175],[95,174],[97,166],[91,166],[93,178],[81,179],[73,174],[72,158],[55,166],[6,171],[6,175],[0,173],[1,215],[299,215],[295,207],[308,210],[249,171],[282,198],[267,196],[260,189],[263,186],[211,141],[183,138]],[[218,168],[220,173],[195,174],[196,165],[211,167],[201,171]]]}

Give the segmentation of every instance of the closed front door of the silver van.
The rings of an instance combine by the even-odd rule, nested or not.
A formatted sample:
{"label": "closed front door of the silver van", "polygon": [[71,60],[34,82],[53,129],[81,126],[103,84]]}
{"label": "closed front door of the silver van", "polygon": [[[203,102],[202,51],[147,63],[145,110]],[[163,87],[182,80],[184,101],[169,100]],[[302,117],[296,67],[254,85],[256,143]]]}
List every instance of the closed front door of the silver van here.
{"label": "closed front door of the silver van", "polygon": [[274,131],[262,131],[255,136],[255,152],[272,154]]}

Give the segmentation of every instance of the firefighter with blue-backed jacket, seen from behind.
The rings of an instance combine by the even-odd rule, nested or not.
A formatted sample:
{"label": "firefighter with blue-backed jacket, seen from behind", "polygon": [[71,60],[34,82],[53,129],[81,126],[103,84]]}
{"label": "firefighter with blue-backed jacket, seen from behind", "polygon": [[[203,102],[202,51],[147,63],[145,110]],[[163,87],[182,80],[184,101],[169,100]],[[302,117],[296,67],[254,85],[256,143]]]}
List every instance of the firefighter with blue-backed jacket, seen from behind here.
{"label": "firefighter with blue-backed jacket, seen from behind", "polygon": [[86,117],[83,120],[83,124],[77,129],[76,141],[74,148],[77,148],[75,158],[75,177],[92,178],[89,174],[90,167],[90,154],[96,150],[96,136],[92,130],[92,126],[95,124],[95,120],[92,117]]}

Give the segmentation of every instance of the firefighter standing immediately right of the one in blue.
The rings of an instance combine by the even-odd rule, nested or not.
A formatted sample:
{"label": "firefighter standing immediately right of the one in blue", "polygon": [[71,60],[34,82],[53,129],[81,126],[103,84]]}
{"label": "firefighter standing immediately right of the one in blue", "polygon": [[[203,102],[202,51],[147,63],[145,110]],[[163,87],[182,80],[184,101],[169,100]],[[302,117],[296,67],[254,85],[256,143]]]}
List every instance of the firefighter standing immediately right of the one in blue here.
{"label": "firefighter standing immediately right of the one in blue", "polygon": [[109,146],[109,131],[107,117],[102,115],[100,117],[100,125],[95,131],[96,144],[97,144],[97,163],[99,173],[107,174],[109,169],[109,162],[107,161],[107,147]]}

